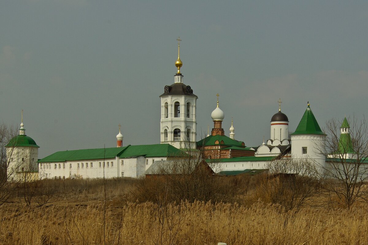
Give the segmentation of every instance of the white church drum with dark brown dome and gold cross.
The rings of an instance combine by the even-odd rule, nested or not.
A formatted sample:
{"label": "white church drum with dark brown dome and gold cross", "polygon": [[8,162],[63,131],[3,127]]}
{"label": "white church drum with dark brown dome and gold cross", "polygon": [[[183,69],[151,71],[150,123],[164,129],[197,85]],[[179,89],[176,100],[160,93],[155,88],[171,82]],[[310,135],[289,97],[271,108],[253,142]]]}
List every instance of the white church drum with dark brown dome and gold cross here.
{"label": "white church drum with dark brown dome and gold cross", "polygon": [[289,139],[289,119],[281,112],[281,99],[279,99],[279,111],[271,118],[271,135],[270,139],[275,141],[278,139],[282,142],[284,139]]}

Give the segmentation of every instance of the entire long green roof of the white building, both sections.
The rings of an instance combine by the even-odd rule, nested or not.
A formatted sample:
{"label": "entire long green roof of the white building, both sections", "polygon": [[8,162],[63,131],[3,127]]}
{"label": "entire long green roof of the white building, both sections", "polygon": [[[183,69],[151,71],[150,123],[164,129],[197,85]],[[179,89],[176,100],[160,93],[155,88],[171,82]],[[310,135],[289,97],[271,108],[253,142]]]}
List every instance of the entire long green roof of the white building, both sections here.
{"label": "entire long green roof of the white building, both sections", "polygon": [[127,158],[127,157],[167,157],[185,155],[184,152],[169,144],[128,145],[125,147],[64,150],[40,159],[38,162],[60,162],[91,159]]}

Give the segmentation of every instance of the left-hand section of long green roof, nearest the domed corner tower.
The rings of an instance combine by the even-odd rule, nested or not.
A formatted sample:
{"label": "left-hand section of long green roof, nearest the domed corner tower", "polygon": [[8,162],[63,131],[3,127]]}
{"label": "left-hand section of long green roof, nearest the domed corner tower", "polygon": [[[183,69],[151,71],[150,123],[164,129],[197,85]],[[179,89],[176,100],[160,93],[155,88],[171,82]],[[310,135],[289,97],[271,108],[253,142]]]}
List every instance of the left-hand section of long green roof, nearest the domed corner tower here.
{"label": "left-hand section of long green roof, nearest the domed corner tower", "polygon": [[57,161],[77,161],[77,160],[91,160],[91,159],[109,159],[115,158],[125,147],[113,147],[113,148],[98,148],[98,149],[81,149],[81,150],[64,150],[61,152],[55,152],[50,156],[44,157],[38,162],[57,162]]}

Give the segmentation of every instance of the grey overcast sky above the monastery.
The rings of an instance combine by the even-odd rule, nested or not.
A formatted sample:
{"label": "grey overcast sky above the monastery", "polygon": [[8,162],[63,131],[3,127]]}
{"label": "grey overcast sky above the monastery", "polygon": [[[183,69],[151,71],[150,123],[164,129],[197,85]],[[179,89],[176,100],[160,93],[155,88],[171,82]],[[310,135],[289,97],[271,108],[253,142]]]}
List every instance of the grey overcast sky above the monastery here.
{"label": "grey overcast sky above the monastery", "polygon": [[278,110],[294,131],[311,109],[367,114],[368,1],[89,1],[0,3],[0,121],[59,150],[160,141],[160,98],[173,84],[180,36],[184,83],[197,100],[197,140],[220,94],[229,135],[270,136]]}

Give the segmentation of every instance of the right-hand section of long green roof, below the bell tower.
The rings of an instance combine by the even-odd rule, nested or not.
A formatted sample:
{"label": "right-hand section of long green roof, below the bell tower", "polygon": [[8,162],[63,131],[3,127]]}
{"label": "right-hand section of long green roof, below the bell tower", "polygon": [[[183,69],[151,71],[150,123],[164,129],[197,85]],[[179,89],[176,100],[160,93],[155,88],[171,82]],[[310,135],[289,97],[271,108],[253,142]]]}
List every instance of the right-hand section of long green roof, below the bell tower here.
{"label": "right-hand section of long green roof, below the bell tower", "polygon": [[156,145],[131,145],[119,156],[120,158],[145,156],[145,157],[167,157],[184,156],[183,151],[169,144]]}

